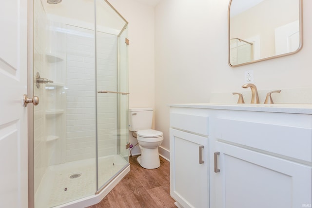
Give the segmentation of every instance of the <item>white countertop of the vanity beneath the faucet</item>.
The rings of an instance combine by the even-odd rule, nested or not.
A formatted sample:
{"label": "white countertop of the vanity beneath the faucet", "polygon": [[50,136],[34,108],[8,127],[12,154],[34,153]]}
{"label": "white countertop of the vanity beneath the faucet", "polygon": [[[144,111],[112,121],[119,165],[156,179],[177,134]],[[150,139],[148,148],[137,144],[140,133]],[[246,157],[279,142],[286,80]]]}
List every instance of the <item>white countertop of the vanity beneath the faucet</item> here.
{"label": "white countertop of the vanity beneath the faucet", "polygon": [[312,114],[312,104],[228,104],[228,103],[199,103],[199,104],[168,104],[170,107],[189,107],[220,110],[242,110],[276,113]]}

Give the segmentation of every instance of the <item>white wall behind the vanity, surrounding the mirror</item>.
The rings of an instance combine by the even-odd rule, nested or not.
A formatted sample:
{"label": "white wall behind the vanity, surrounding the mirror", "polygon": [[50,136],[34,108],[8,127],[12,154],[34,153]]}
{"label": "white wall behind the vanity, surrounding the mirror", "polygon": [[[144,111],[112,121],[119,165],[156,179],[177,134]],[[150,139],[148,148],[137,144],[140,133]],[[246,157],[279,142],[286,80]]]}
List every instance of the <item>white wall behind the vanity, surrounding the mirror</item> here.
{"label": "white wall behind the vanity, surrounding the mirror", "polygon": [[[312,87],[312,9],[303,0],[303,48],[291,56],[228,65],[229,0],[163,0],[155,10],[155,127],[169,149],[168,103],[209,102],[211,93],[243,91],[245,70],[258,89]],[[247,89],[246,89],[247,90]]]}

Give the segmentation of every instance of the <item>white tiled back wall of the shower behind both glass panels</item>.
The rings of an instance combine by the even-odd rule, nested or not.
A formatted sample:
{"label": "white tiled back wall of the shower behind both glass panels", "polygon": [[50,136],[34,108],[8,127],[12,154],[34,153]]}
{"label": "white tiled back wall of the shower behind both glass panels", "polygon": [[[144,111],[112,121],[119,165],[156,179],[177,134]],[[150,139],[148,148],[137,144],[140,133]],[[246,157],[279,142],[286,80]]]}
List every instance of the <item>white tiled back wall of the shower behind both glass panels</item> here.
{"label": "white tiled back wall of the shower behind both glass panels", "polygon": [[[66,161],[95,157],[96,86],[95,41],[91,30],[68,26],[67,35],[67,142]],[[114,35],[98,36],[98,90],[116,90],[117,41]],[[112,43],[113,42],[113,43]],[[114,49],[115,48],[115,51]],[[115,87],[115,88],[114,88]],[[116,97],[116,95],[114,94]],[[116,126],[116,99],[98,94],[99,156],[116,153],[110,135]]]}

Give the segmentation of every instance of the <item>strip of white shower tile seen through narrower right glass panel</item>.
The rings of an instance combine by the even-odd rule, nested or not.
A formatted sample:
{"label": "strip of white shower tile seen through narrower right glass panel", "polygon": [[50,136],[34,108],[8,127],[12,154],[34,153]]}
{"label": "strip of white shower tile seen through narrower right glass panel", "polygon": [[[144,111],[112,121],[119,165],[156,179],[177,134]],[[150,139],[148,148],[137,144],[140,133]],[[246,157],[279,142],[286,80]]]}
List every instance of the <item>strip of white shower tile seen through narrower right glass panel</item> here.
{"label": "strip of white shower tile seen through narrower right glass panel", "polygon": [[[117,36],[97,34],[98,90],[117,91]],[[117,154],[117,96],[98,94],[98,156]]]}

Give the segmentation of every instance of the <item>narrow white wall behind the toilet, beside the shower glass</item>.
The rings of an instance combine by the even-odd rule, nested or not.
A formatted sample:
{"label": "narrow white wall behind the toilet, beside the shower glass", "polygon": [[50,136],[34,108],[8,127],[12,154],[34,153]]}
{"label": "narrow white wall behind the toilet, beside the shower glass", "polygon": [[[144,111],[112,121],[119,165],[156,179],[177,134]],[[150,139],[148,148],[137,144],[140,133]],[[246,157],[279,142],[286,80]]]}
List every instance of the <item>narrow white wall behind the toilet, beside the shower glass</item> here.
{"label": "narrow white wall behind the toilet, beside the shower glass", "polygon": [[[155,108],[154,7],[136,0],[109,2],[129,22],[129,108]],[[129,134],[129,142],[137,140]],[[139,153],[138,146],[132,153]]]}

